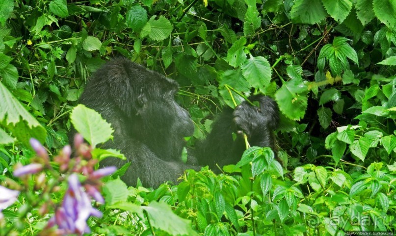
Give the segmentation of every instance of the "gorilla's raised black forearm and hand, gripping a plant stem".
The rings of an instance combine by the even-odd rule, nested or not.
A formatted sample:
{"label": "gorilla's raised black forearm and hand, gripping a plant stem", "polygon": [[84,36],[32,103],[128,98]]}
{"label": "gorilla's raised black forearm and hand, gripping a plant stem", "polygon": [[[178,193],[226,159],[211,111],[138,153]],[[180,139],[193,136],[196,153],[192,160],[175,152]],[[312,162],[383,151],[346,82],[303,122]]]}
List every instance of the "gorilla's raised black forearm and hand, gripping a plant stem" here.
{"label": "gorilla's raised black forearm and hand, gripping a plant stem", "polygon": [[275,150],[275,136],[279,110],[275,101],[263,95],[249,97],[251,101],[258,101],[260,107],[252,106],[246,101],[235,110],[226,108],[216,118],[211,133],[207,139],[196,146],[196,156],[200,165],[209,165],[215,169],[216,164],[236,164],[246,149],[241,135],[233,139],[233,133],[244,132],[251,146],[270,147]]}

